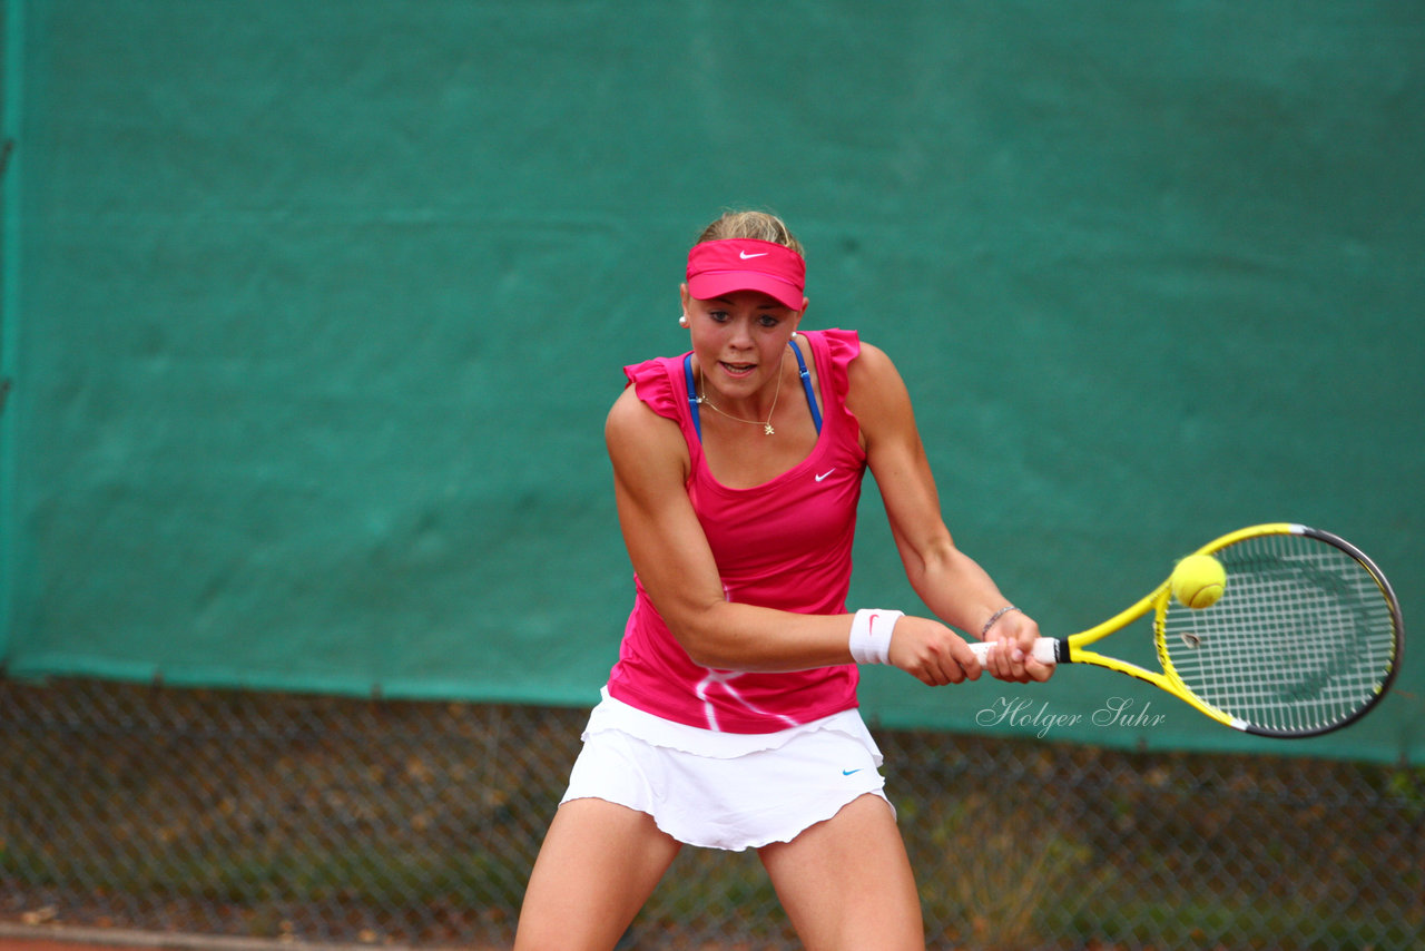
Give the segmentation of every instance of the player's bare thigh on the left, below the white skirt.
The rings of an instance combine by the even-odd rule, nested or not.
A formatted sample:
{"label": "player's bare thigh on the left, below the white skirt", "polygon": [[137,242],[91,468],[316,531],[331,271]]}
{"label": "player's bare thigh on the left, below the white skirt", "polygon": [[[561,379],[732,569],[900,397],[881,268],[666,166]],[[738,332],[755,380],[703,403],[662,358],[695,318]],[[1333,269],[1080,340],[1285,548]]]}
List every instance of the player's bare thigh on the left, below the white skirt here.
{"label": "player's bare thigh on the left, below the white skirt", "polygon": [[564,803],[530,873],[516,951],[613,948],[678,848],[651,816],[598,798]]}

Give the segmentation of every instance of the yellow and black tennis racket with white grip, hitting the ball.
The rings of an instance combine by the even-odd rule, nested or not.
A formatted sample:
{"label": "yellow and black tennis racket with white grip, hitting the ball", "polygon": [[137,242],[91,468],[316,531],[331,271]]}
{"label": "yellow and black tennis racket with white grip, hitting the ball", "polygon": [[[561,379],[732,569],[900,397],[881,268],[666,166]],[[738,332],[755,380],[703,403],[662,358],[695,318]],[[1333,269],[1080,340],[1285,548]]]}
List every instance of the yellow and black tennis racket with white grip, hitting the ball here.
{"label": "yellow and black tennis racket with white grip, hitting the ball", "polygon": [[[1200,548],[1227,572],[1216,605],[1193,610],[1171,577],[1127,610],[1067,637],[1040,637],[1043,663],[1117,670],[1218,723],[1265,737],[1340,730],[1381,701],[1401,664],[1401,606],[1358,548],[1304,525],[1258,525]],[[1163,670],[1089,650],[1153,612]],[[970,643],[983,662],[988,643]]]}

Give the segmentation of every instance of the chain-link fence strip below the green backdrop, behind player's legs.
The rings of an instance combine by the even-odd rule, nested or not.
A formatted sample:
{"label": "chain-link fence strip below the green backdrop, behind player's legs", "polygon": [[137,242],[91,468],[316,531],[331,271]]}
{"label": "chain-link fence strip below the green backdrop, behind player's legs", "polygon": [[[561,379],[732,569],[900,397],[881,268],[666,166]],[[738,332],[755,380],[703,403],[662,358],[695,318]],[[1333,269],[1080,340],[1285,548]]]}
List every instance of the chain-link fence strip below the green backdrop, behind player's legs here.
{"label": "chain-link fence strip below the green backdrop, behind player's legs", "polygon": [[[586,711],[0,682],[0,921],[507,948]],[[1425,768],[874,730],[933,948],[1425,947]],[[684,850],[627,948],[795,948]]]}

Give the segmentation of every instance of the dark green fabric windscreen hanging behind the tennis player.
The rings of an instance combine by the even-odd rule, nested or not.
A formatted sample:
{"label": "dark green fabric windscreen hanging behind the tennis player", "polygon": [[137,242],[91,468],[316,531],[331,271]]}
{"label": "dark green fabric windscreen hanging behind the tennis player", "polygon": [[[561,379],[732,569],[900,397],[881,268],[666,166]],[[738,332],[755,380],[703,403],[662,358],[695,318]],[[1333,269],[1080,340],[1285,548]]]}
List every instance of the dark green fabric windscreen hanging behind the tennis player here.
{"label": "dark green fabric windscreen hanging behind the tennis player", "polygon": [[[685,349],[725,205],[898,361],[1046,629],[1267,520],[1425,592],[1419,3],[9,0],[4,53],[10,676],[593,703],[631,603],[603,416]],[[868,488],[854,605],[915,610]],[[1093,670],[865,700],[1419,761],[1406,656],[1285,749]],[[985,723],[1015,704],[1082,723]]]}

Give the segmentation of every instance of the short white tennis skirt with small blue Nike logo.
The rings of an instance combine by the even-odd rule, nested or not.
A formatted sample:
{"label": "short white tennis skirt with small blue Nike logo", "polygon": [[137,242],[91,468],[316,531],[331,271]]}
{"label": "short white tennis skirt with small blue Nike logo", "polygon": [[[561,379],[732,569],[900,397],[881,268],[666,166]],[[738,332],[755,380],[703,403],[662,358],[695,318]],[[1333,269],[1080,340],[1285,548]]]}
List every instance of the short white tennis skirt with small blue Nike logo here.
{"label": "short white tennis skirt with small blue Nike logo", "polygon": [[626,806],[688,845],[742,851],[789,843],[861,796],[885,800],[881,750],[856,710],[779,733],[714,733],[606,692],[583,740],[560,804]]}

